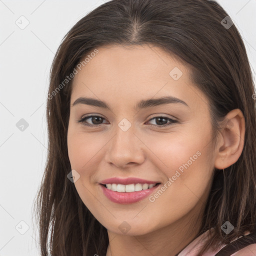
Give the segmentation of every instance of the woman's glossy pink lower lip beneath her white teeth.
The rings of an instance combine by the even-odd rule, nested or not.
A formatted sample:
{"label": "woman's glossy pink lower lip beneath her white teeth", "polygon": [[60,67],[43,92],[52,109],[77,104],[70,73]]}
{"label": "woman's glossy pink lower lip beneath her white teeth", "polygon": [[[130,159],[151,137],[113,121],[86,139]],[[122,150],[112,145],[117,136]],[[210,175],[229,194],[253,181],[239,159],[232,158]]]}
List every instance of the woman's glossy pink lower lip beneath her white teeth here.
{"label": "woman's glossy pink lower lip beneath her white teeth", "polygon": [[133,203],[140,201],[147,197],[149,194],[153,192],[154,189],[156,189],[160,184],[157,184],[156,186],[153,186],[151,188],[141,190],[141,191],[134,191],[134,192],[117,192],[112,191],[108,188],[106,188],[104,185],[100,186],[102,187],[104,195],[112,202],[116,203]]}

